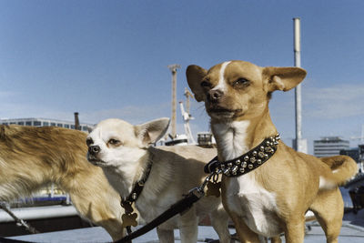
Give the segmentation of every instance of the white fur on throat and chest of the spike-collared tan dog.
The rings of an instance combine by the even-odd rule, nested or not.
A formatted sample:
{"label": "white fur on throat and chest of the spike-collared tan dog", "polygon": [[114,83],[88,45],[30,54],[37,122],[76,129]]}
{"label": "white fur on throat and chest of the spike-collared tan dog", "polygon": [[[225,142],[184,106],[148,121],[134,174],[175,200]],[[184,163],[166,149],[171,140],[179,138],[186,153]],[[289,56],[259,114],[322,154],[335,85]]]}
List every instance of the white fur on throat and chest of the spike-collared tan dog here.
{"label": "white fur on throat and chest of the spike-collared tan dog", "polygon": [[[248,152],[246,139],[249,125],[249,121],[211,124],[218,151],[225,161]],[[248,227],[259,235],[276,236],[282,231],[274,216],[277,210],[276,195],[258,185],[254,173],[229,178],[226,190],[228,208],[241,216]]]}

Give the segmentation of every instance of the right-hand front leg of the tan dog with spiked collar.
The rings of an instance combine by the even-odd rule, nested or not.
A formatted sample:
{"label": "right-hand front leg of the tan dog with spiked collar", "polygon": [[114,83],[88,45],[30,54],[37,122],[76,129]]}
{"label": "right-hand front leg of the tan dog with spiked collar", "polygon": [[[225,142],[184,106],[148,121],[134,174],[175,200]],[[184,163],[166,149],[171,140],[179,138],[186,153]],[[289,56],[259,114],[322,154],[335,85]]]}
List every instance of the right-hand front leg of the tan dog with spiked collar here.
{"label": "right-hand front leg of the tan dog with spiked collar", "polygon": [[295,218],[286,222],[285,238],[287,243],[300,243],[305,238],[305,219]]}

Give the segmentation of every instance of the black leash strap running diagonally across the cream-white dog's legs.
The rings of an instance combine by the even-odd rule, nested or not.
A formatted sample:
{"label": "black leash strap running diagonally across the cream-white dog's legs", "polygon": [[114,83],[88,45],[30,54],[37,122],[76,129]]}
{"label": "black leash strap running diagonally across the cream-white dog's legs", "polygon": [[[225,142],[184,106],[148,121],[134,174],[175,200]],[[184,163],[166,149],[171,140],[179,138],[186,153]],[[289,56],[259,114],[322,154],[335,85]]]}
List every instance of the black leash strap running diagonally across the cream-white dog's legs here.
{"label": "black leash strap running diagonally across the cream-white dog's legs", "polygon": [[176,216],[178,213],[183,213],[187,209],[191,208],[194,203],[196,203],[201,197],[204,196],[203,190],[200,190],[201,187],[197,187],[189,191],[189,193],[182,198],[181,200],[177,201],[174,205],[172,205],[169,209],[167,209],[163,214],[158,216],[157,218],[153,219],[150,223],[145,225],[142,228],[137,229],[136,231],[132,232],[130,235],[127,235],[125,238],[121,238],[117,240],[117,243],[129,243],[133,238],[138,238],[153,228],[157,228],[157,226],[161,225],[169,218]]}

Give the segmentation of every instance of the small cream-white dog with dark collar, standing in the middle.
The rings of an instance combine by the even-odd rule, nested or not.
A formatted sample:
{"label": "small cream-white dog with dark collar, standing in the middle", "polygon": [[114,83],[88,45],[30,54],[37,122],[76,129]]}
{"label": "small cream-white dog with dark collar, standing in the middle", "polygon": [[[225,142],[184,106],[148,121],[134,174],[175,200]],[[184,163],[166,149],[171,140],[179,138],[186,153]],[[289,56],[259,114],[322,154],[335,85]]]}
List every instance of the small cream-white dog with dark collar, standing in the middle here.
{"label": "small cream-white dog with dark collar, standing in the middle", "polygon": [[[119,119],[100,122],[87,137],[88,160],[102,167],[110,184],[123,198],[143,181],[135,205],[141,218],[150,222],[182,198],[206,177],[203,167],[216,156],[216,149],[196,146],[150,147],[162,137],[169,119],[133,126]],[[151,166],[151,167],[150,167]],[[149,169],[148,169],[149,167]],[[146,172],[150,171],[150,172]],[[229,242],[227,213],[221,197],[202,197],[181,216],[157,228],[160,242],[174,242],[173,229],[180,229],[181,242],[197,242],[197,224],[207,214],[220,242]]]}

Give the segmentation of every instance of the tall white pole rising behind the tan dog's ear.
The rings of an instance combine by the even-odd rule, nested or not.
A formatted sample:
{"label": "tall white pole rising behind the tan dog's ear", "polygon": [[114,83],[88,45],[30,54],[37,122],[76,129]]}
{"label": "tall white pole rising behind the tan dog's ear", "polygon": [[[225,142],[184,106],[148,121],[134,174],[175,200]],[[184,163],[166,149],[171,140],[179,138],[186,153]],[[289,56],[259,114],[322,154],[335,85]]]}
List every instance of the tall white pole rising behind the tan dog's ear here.
{"label": "tall white pole rising behind the tan dog's ear", "polygon": [[[301,36],[300,36],[300,19],[293,18],[294,25],[294,52],[295,52],[295,66],[301,66]],[[302,116],[301,116],[301,85],[295,88],[295,103],[296,103],[296,150],[305,152],[302,145]]]}

